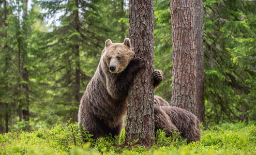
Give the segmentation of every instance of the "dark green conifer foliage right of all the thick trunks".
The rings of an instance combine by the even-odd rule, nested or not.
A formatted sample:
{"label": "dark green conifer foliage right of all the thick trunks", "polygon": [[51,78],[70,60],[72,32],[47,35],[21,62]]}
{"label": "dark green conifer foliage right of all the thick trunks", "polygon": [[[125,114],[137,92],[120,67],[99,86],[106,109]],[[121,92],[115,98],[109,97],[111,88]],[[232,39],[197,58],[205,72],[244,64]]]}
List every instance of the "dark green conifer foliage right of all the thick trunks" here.
{"label": "dark green conifer foliage right of all the thick trunks", "polygon": [[256,15],[255,2],[206,1],[204,8],[207,123],[248,121],[249,116],[254,119],[255,69],[253,65],[239,65],[243,59],[237,55],[251,58],[255,53],[252,44],[244,50],[245,40],[256,37],[251,23]]}

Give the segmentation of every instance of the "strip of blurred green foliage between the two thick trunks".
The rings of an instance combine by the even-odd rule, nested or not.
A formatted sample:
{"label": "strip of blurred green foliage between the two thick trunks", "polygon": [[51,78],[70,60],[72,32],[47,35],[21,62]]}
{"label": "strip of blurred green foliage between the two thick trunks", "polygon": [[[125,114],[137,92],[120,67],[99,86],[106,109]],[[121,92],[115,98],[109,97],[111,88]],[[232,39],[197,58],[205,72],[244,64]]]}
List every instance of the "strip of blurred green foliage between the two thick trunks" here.
{"label": "strip of blurred green foliage between the two thick trunks", "polygon": [[172,97],[172,24],[170,1],[155,1],[154,67],[163,72],[163,82],[155,90],[169,103]]}

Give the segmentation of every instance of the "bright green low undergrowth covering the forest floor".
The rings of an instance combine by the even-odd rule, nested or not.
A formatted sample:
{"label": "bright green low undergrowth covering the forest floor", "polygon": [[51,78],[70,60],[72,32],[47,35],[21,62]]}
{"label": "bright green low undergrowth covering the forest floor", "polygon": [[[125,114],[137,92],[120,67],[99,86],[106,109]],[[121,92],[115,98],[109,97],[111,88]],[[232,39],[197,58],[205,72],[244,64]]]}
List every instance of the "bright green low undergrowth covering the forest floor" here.
{"label": "bright green low undergrowth covering the forest floor", "polygon": [[[83,134],[87,143],[80,138]],[[209,127],[202,131],[200,142],[186,143],[179,133],[165,137],[156,134],[153,147],[139,146],[137,141],[124,146],[121,136],[107,136],[94,142],[88,133],[80,133],[77,123],[56,125],[53,129],[0,134],[0,154],[256,154],[256,126],[244,122]]]}

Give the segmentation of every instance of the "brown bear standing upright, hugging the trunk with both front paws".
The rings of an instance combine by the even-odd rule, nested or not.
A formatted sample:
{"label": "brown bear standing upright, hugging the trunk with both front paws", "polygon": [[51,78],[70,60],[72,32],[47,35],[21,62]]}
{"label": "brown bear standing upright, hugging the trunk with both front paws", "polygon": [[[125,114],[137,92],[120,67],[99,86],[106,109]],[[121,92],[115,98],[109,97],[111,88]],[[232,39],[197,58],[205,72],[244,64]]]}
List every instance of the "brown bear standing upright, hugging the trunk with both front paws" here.
{"label": "brown bear standing upright, hugging the trunk with both front paws", "polygon": [[[142,67],[143,59],[134,57],[130,40],[105,42],[98,68],[81,99],[78,123],[97,139],[111,133],[120,135],[127,113],[128,89]],[[162,82],[155,70],[154,87]]]}

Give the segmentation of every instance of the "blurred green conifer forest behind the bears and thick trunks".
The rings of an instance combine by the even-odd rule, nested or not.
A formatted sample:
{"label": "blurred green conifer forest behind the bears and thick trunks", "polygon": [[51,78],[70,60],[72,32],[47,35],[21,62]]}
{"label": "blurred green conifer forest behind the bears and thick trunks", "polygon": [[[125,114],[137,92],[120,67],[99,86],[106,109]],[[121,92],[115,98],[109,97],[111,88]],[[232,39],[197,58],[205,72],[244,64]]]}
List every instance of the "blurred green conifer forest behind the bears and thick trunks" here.
{"label": "blurred green conifer forest behind the bears and thick trunks", "polygon": [[[0,0],[0,133],[77,121],[104,41],[128,37],[128,3]],[[203,4],[206,126],[256,120],[256,1]],[[154,68],[164,73],[155,94],[170,103],[170,1],[154,8]]]}

